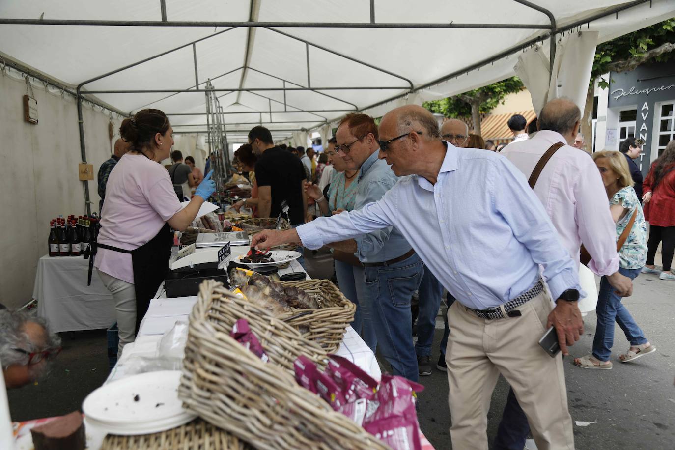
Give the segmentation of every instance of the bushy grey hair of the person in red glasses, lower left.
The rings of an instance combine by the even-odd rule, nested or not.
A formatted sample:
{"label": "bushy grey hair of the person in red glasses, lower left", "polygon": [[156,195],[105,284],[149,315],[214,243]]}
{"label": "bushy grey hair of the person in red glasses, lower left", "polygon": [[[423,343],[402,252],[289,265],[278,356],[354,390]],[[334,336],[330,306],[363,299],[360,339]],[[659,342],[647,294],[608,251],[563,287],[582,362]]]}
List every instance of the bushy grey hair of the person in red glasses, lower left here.
{"label": "bushy grey hair of the person in red glasses, lower left", "polygon": [[[38,347],[30,341],[26,333],[26,322],[34,322],[45,330],[45,344]],[[14,350],[20,348],[28,352],[43,351],[57,348],[61,345],[61,338],[49,330],[47,320],[26,311],[0,310],[0,358],[3,368],[12,364],[28,364],[28,355]]]}

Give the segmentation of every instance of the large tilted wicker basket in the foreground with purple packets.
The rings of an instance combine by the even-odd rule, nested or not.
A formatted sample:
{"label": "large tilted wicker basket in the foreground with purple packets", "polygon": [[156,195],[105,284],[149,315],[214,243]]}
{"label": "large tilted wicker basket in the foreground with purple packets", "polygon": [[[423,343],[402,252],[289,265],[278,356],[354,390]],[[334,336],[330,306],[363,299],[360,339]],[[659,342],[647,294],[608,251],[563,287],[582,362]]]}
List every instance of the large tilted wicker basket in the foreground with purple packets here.
{"label": "large tilted wicker basket in the foreground with purple packets", "polygon": [[[248,320],[269,362],[229,337],[234,316]],[[178,395],[188,410],[258,449],[388,449],[296,383],[289,363],[300,354],[317,360],[325,351],[207,280],[190,313]]]}

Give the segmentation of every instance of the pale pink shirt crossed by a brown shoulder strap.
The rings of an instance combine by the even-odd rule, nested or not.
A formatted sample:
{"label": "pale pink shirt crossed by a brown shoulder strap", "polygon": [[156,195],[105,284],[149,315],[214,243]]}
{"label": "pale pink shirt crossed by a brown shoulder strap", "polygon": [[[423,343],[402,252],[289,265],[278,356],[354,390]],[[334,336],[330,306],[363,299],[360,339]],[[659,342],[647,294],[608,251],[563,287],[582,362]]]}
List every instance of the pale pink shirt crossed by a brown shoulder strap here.
{"label": "pale pink shirt crossed by a brown shoulder strap", "polygon": [[[566,143],[560,133],[541,130],[529,140],[509,144],[501,154],[529,178],[541,156],[556,142]],[[577,267],[583,242],[591,256],[595,256],[589,263],[591,271],[597,275],[618,271],[616,229],[607,192],[587,152],[569,145],[559,148],[541,171],[535,194]]]}

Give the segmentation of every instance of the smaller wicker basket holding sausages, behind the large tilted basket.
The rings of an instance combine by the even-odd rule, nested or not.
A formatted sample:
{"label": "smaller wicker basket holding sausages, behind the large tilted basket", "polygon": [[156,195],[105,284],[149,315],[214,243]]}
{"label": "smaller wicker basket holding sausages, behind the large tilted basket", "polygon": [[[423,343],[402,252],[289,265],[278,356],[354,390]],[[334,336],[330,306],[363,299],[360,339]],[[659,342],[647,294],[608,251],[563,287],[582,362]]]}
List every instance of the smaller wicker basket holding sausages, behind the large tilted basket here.
{"label": "smaller wicker basket holding sausages, behind the large tilted basket", "polygon": [[295,329],[308,327],[309,332],[302,336],[319,343],[328,353],[334,353],[342,343],[347,325],[354,320],[356,305],[329,280],[282,281],[281,284],[314,296],[321,308],[295,310],[280,318]]}

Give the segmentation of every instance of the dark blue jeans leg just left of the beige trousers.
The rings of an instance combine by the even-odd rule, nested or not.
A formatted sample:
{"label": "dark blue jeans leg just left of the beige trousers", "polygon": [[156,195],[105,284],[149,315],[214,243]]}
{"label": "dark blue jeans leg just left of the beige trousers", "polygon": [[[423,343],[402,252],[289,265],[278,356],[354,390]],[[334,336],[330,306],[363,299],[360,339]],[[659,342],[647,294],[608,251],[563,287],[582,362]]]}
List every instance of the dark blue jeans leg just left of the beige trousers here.
{"label": "dark blue jeans leg just left of the beige trousers", "polygon": [[436,329],[436,316],[441,307],[443,286],[433,273],[425,267],[422,282],[418,289],[419,314],[417,316],[417,342],[415,353],[417,356],[430,356],[433,344],[433,331]]}

